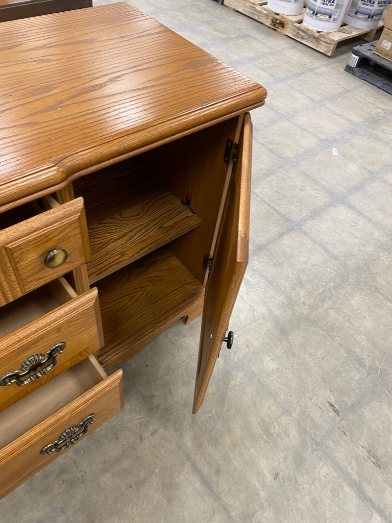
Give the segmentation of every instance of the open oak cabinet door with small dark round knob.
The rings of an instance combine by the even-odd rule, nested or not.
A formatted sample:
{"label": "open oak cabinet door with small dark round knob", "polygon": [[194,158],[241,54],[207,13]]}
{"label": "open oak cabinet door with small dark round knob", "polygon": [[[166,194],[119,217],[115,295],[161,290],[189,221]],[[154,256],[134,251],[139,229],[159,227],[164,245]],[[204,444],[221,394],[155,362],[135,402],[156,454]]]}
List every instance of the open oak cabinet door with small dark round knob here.
{"label": "open oak cabinet door with small dark round knob", "polygon": [[206,285],[193,414],[202,404],[248,264],[251,152],[252,122],[247,113]]}

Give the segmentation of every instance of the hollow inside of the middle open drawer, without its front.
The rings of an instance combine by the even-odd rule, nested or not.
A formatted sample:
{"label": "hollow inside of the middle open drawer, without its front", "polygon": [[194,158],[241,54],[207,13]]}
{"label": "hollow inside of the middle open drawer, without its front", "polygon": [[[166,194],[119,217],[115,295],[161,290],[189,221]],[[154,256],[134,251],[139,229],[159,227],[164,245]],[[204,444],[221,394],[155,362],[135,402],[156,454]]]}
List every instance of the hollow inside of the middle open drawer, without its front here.
{"label": "hollow inside of the middle open drawer, without its front", "polygon": [[4,305],[0,314],[0,339],[75,298],[76,292],[61,277]]}

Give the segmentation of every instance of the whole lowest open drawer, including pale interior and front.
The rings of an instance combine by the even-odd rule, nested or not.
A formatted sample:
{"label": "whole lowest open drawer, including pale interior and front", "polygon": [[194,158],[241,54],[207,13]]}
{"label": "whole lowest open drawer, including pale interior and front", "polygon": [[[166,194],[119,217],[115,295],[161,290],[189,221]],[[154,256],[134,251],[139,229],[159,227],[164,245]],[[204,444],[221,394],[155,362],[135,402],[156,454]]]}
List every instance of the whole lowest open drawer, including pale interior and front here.
{"label": "whole lowest open drawer, including pale interior and front", "polygon": [[123,406],[122,371],[89,356],[0,414],[0,497]]}

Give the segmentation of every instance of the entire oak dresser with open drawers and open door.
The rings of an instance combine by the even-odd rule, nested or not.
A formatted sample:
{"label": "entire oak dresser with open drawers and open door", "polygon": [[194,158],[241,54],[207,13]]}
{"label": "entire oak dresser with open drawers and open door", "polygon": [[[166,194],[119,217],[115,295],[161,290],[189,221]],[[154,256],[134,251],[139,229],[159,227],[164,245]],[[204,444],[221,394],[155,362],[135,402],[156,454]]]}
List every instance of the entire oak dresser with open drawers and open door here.
{"label": "entire oak dresser with open drawers and open door", "polygon": [[247,264],[266,91],[128,4],[5,22],[0,59],[5,495],[120,410],[102,367],[203,313],[198,411]]}

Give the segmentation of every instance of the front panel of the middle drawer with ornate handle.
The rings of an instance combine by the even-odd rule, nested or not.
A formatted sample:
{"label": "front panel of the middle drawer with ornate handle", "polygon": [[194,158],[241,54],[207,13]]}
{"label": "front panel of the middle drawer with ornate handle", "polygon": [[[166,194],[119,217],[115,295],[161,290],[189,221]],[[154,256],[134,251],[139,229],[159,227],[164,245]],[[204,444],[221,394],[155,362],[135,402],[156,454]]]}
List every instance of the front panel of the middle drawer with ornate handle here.
{"label": "front panel of the middle drawer with ornate handle", "polygon": [[0,339],[0,412],[102,345],[96,288]]}

